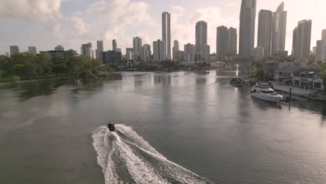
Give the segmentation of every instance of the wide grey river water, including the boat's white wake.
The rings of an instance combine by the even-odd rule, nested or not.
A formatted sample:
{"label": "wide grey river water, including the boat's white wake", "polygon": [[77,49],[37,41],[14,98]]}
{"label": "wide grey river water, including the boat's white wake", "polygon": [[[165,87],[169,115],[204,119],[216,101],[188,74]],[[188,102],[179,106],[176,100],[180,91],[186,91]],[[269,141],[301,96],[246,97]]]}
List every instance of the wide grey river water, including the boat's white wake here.
{"label": "wide grey river water, including the boat's white wake", "polygon": [[2,86],[0,183],[325,184],[326,106],[256,100],[233,75]]}

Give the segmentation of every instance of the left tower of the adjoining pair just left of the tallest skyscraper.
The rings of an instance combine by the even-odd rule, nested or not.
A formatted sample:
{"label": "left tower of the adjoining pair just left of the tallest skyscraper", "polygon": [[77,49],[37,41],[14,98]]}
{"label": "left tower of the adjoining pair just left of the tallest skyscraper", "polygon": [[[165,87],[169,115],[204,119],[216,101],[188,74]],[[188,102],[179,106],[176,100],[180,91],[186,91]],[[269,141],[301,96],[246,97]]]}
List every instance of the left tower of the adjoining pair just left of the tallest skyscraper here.
{"label": "left tower of the adjoining pair just left of the tallest skyscraper", "polygon": [[217,27],[216,36],[216,57],[224,59],[228,54],[228,28],[226,26]]}

